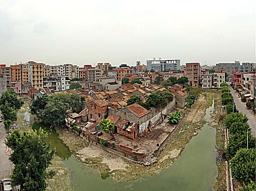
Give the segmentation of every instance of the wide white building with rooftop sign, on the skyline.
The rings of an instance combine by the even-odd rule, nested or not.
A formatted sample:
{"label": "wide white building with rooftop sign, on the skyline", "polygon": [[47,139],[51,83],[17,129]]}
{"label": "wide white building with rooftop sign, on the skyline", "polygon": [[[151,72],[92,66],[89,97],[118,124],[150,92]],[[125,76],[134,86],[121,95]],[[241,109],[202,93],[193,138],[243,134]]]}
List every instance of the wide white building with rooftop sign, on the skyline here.
{"label": "wide white building with rooftop sign, on the skyline", "polygon": [[179,70],[180,64],[181,64],[180,59],[147,61],[147,70],[154,70],[154,71]]}

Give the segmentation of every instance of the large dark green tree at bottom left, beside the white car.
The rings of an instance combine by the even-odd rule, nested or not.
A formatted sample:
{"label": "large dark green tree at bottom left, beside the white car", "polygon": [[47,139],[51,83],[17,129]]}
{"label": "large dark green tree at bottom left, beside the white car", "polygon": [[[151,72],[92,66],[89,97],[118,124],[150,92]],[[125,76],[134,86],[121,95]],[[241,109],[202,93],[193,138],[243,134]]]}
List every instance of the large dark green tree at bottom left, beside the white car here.
{"label": "large dark green tree at bottom left, beside the white car", "polygon": [[14,163],[11,181],[22,190],[43,191],[46,179],[53,177],[55,171],[46,172],[54,157],[54,150],[46,142],[47,133],[42,129],[19,133],[15,131],[7,138],[6,145],[13,150],[10,160]]}

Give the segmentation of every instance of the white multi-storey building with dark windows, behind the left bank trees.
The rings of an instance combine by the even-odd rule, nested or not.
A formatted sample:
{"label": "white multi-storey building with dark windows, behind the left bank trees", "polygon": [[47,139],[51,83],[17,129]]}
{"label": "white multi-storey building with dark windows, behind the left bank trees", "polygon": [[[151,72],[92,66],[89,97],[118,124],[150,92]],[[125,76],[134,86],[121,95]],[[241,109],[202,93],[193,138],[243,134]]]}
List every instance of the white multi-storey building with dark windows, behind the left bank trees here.
{"label": "white multi-storey building with dark windows, behind the left bank trees", "polygon": [[44,76],[44,88],[52,87],[55,92],[69,89],[70,80],[68,76]]}

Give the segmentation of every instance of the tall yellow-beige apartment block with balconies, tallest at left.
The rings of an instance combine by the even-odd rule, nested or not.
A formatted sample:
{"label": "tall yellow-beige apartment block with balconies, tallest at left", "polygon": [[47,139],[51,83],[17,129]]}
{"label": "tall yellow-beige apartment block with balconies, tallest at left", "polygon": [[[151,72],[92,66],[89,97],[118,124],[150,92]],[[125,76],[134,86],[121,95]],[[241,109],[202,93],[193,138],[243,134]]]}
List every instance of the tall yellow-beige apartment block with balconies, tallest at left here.
{"label": "tall yellow-beige apartment block with balconies, tallest at left", "polygon": [[43,63],[29,61],[28,63],[28,81],[37,90],[43,89]]}

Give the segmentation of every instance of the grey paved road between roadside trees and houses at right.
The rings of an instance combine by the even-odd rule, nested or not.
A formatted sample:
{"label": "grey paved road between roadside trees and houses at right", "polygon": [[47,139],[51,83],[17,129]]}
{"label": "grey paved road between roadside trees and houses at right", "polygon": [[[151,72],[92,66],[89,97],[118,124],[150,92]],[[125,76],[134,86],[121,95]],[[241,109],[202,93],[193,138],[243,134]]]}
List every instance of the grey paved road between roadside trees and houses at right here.
{"label": "grey paved road between roadside trees and houses at right", "polygon": [[[253,114],[253,112],[250,109],[248,109],[246,107],[246,103],[241,102],[241,99],[238,98],[238,93],[236,91],[234,91],[234,89],[230,86],[230,82],[228,82],[228,85],[229,85],[230,92],[231,92],[232,96],[234,97],[234,102],[236,104],[236,108],[239,110],[239,112],[242,112],[243,114],[245,114],[248,117],[248,119],[249,119],[248,124],[250,127],[255,126],[255,124],[256,124],[255,115]],[[254,137],[256,135],[255,133],[256,133],[256,127],[253,127],[252,135]]]}

